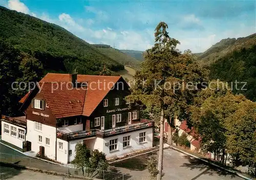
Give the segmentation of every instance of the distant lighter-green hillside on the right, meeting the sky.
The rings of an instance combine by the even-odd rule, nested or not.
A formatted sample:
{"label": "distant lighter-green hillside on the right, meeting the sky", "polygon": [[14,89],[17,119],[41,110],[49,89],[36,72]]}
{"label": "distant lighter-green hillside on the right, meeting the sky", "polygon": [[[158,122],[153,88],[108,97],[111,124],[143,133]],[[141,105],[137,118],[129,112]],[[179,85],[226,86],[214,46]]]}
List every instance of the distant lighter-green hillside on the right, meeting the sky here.
{"label": "distant lighter-green hillside on the right, meeting the sky", "polygon": [[229,55],[234,50],[249,48],[254,44],[256,44],[256,33],[244,38],[222,39],[220,42],[212,45],[204,53],[198,53],[198,60],[202,61],[205,64],[211,64],[217,59]]}

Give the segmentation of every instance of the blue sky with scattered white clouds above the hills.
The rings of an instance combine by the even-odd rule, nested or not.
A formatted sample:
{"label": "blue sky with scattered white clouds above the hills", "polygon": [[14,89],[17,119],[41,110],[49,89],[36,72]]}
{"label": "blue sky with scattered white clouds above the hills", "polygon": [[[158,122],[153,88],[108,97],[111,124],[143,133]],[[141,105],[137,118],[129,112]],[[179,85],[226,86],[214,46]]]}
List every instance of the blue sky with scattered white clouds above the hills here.
{"label": "blue sky with scattered white clouds above the hills", "polygon": [[145,50],[160,21],[180,50],[204,52],[225,38],[256,32],[255,1],[0,0],[0,5],[60,25],[89,43]]}

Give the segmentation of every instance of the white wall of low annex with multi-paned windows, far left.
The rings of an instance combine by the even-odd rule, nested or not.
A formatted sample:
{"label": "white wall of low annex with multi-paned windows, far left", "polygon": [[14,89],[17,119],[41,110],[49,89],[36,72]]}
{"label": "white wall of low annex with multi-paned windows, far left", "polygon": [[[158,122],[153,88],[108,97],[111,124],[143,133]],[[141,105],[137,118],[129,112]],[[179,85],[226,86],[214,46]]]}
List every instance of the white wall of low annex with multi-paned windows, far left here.
{"label": "white wall of low annex with multi-paned windows, far left", "polygon": [[[7,131],[7,127],[9,131]],[[22,132],[20,133],[24,132],[24,135],[21,135],[21,134],[19,135],[19,130],[22,130]],[[11,133],[12,131],[13,133]],[[2,121],[2,140],[3,141],[9,142],[19,148],[23,148],[23,141],[25,141],[26,139],[25,134],[26,134],[25,128]]]}

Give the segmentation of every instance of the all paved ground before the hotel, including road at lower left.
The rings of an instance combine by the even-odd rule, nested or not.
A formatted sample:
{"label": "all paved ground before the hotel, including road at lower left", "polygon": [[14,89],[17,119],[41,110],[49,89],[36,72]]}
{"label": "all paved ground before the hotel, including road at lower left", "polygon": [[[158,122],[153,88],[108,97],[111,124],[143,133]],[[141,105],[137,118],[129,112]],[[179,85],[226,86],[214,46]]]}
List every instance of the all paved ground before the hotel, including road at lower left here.
{"label": "all paved ground before the hotel, including road at lower left", "polygon": [[[0,152],[8,153],[16,156],[24,156],[22,153],[14,151],[2,144],[0,144]],[[0,154],[1,155],[1,154]],[[123,168],[122,166],[115,165],[112,169],[113,176],[109,179],[122,180],[147,180],[149,179],[149,174],[146,169],[146,162],[150,155],[139,156],[137,158],[132,158],[129,160],[124,160],[119,162],[120,164],[131,164],[132,166],[137,166],[139,168]],[[151,155],[157,157],[157,154]],[[0,157],[1,161],[4,157]],[[164,149],[163,157],[163,180],[221,180],[221,179],[232,179],[232,180],[242,180],[238,176],[232,175],[226,171],[219,170],[217,168],[209,167],[194,158],[184,155],[173,149]],[[12,158],[4,158],[4,161],[13,161]],[[59,165],[53,165],[40,160],[31,159],[27,157],[20,157],[14,160],[20,165],[29,165],[39,169],[54,170],[57,172],[67,173],[67,168]],[[62,177],[56,176],[46,176],[45,174],[40,174],[37,172],[32,172],[28,170],[13,170],[13,168],[3,169],[1,167],[0,172],[8,175],[8,178],[4,179],[62,179]],[[3,172],[4,171],[4,172]],[[70,169],[71,174],[73,170]],[[115,173],[116,172],[116,173]],[[79,172],[80,173],[80,172]],[[125,173],[126,175],[122,175]]]}

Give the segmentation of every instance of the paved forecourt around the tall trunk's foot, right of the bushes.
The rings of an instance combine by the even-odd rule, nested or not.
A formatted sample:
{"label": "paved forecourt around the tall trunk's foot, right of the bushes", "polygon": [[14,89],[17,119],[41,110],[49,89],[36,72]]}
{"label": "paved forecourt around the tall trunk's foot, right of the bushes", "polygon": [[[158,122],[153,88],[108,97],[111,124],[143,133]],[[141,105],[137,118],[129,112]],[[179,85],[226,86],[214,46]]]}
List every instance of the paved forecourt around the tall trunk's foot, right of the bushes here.
{"label": "paved forecourt around the tall trunk's foot, right of the bushes", "polygon": [[[157,154],[151,155],[157,157]],[[147,180],[149,174],[146,169],[146,160],[149,156],[124,160],[115,164],[118,172],[126,173],[126,179]],[[123,163],[123,164],[122,164]],[[127,164],[131,164],[127,168]],[[120,165],[122,164],[122,165]],[[123,168],[126,167],[126,168]],[[242,180],[243,178],[230,174],[217,168],[209,167],[202,162],[190,158],[173,149],[164,149],[163,180]]]}

